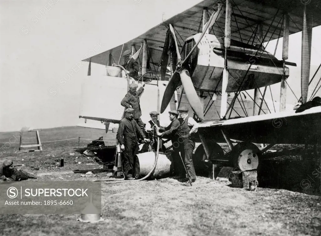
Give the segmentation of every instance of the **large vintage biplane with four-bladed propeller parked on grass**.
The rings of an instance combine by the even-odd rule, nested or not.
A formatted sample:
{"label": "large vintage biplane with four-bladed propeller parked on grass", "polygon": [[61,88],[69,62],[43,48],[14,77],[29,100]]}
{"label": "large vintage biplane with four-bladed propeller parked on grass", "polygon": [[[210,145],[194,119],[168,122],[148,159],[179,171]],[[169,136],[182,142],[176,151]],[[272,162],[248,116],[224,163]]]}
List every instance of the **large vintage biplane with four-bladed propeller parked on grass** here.
{"label": "large vintage biplane with four-bladed propeller parked on grass", "polygon": [[[142,120],[182,104],[199,122],[194,161],[199,165],[256,169],[260,155],[274,144],[313,144],[321,128],[321,106],[303,112],[286,109],[289,35],[302,31],[301,98],[306,104],[310,80],[312,28],[321,24],[316,0],[205,0],[119,46],[94,55],[82,87],[79,118],[119,123],[120,101],[128,83],[147,82],[141,96]],[[269,41],[283,37],[282,59],[266,51]],[[136,51],[137,48],[139,50]],[[277,46],[276,46],[277,47]],[[138,52],[140,78],[113,73],[122,52]],[[118,62],[117,62],[118,61]],[[91,63],[106,66],[107,76],[93,77]],[[319,67],[320,68],[320,67]],[[109,70],[109,72],[108,72]],[[280,110],[272,113],[265,100],[270,85],[280,83]],[[299,86],[299,85],[298,85]],[[262,93],[260,88],[264,89]],[[254,90],[252,98],[248,90]],[[244,100],[250,97],[252,101]],[[99,99],[97,98],[99,97]],[[162,97],[160,102],[160,97]],[[231,140],[239,141],[236,145]],[[227,143],[224,154],[218,143]],[[265,143],[263,150],[254,143]]]}

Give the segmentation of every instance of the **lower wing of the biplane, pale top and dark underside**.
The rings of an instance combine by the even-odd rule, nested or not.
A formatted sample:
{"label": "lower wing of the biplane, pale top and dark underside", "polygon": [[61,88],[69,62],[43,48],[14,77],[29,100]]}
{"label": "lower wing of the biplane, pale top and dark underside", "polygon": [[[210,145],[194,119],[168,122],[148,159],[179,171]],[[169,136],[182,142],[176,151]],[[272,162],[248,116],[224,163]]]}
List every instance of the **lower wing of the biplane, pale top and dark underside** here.
{"label": "lower wing of the biplane, pale top and dark underside", "polygon": [[311,142],[320,134],[321,106],[313,107],[301,113],[286,110],[250,116],[227,121],[199,123],[199,132],[205,139],[225,142],[221,130],[230,139],[253,143],[303,144]]}

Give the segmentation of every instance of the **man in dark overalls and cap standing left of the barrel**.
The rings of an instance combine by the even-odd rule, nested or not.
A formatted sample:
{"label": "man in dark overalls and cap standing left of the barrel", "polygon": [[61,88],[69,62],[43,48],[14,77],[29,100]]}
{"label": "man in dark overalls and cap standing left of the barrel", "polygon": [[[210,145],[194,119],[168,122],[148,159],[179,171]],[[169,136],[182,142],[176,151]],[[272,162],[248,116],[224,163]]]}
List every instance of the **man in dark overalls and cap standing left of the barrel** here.
{"label": "man in dark overalls and cap standing left of the barrel", "polygon": [[135,162],[134,156],[138,154],[138,136],[144,139],[145,142],[149,140],[146,139],[145,134],[139,128],[136,121],[133,119],[134,109],[127,108],[125,110],[125,118],[119,123],[117,140],[120,143],[120,149],[123,150],[123,166],[124,175],[126,179],[135,179]]}

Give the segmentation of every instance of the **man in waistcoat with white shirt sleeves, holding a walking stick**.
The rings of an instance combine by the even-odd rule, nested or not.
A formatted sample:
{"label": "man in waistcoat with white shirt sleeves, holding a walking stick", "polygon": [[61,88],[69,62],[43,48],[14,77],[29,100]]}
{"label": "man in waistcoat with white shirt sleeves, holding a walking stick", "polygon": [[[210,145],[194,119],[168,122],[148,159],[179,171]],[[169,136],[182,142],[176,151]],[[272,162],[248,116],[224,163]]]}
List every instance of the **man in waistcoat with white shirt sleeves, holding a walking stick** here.
{"label": "man in waistcoat with white shirt sleeves, holding a walking stick", "polygon": [[[188,108],[183,106],[178,109],[179,112],[179,123],[180,126],[178,128],[177,134],[179,136],[179,151],[181,153],[181,157],[184,160],[187,173],[191,178],[191,182],[195,182],[196,175],[193,164],[193,150],[195,148],[195,138],[194,135],[198,129],[198,123],[192,118],[188,116]],[[183,181],[188,181],[187,178],[184,178]]]}

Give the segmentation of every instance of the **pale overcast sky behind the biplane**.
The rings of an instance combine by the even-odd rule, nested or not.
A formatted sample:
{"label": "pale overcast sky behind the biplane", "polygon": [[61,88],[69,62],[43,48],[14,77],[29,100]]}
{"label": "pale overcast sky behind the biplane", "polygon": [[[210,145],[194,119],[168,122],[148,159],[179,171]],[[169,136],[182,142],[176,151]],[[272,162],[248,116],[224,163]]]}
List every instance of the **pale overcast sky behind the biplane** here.
{"label": "pale overcast sky behind the biplane", "polygon": [[[197,2],[0,0],[0,131],[77,124],[80,85],[88,63],[82,62],[83,66],[64,85],[59,80],[66,78],[90,50],[98,54],[117,46],[119,41],[130,40],[160,23],[162,17],[168,19]],[[321,62],[320,32],[320,28],[313,30],[313,64]],[[269,47],[273,45],[275,42]],[[290,36],[288,61],[300,65],[300,49],[301,34]],[[281,54],[278,50],[276,56],[280,59]],[[96,68],[93,64],[92,75],[106,73]],[[53,92],[54,97],[50,96]]]}

